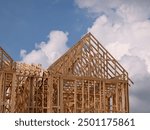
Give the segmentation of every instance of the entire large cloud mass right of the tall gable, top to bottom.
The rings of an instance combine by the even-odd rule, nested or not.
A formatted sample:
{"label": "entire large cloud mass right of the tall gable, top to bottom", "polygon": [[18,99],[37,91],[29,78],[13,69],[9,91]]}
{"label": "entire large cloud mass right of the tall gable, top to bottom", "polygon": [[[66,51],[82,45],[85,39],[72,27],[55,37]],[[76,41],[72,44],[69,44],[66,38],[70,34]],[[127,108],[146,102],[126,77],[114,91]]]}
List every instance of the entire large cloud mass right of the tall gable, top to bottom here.
{"label": "entire large cloud mass right of the tall gable, top to bottom", "polygon": [[87,31],[121,62],[134,81],[134,87],[130,88],[131,112],[150,112],[150,1],[75,2],[89,15],[97,16]]}

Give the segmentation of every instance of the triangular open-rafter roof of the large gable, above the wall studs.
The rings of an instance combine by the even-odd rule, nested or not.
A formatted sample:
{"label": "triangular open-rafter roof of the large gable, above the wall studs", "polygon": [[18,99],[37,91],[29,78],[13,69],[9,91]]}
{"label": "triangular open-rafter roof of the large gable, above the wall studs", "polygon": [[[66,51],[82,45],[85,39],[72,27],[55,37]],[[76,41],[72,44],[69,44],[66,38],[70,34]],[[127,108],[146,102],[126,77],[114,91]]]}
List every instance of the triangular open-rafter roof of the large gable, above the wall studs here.
{"label": "triangular open-rafter roof of the large gable, above the wall studs", "polygon": [[[51,74],[118,78],[129,80],[127,71],[91,34],[86,34],[77,44],[49,68]],[[132,81],[131,81],[132,82]]]}

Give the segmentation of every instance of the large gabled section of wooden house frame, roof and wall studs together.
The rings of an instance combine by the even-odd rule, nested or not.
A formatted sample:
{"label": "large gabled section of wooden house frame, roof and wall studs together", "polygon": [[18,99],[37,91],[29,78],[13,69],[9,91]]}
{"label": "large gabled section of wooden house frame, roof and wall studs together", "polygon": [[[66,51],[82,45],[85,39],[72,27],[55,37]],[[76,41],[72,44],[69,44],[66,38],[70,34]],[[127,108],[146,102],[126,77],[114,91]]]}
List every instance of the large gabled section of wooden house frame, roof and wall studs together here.
{"label": "large gabled section of wooden house frame, roof and wall studs together", "polygon": [[[52,112],[129,112],[127,71],[91,34],[49,68]],[[51,100],[52,99],[52,100]]]}

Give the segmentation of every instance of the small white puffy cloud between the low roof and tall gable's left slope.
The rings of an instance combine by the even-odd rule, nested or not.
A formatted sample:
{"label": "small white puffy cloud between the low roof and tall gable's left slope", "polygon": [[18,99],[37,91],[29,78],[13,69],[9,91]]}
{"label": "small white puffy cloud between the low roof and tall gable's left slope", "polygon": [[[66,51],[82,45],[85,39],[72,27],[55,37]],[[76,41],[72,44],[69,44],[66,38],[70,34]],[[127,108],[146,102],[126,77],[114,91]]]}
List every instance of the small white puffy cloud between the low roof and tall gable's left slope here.
{"label": "small white puffy cloud between the low roof and tall gable's left slope", "polygon": [[59,58],[66,50],[68,33],[62,31],[52,31],[48,35],[47,42],[41,42],[35,45],[35,49],[27,53],[26,50],[21,50],[20,55],[22,61],[25,63],[42,64],[44,68],[47,68],[57,58]]}

